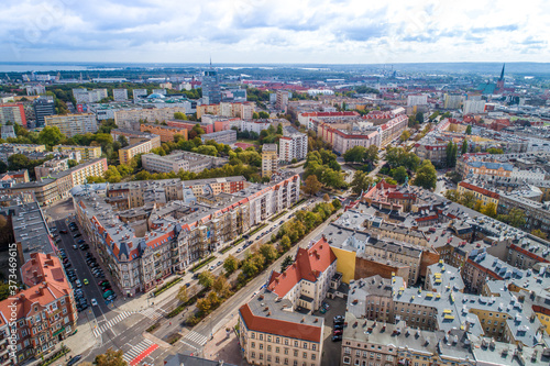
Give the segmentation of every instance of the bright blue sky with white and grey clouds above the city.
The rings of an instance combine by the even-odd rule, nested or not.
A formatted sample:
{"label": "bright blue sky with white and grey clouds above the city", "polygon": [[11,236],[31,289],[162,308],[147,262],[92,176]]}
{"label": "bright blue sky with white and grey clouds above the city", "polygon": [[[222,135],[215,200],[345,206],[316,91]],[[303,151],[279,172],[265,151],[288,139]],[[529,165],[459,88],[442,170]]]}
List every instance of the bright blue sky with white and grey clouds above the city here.
{"label": "bright blue sky with white and grey clouds above the city", "polygon": [[0,62],[550,62],[550,1],[20,0]]}

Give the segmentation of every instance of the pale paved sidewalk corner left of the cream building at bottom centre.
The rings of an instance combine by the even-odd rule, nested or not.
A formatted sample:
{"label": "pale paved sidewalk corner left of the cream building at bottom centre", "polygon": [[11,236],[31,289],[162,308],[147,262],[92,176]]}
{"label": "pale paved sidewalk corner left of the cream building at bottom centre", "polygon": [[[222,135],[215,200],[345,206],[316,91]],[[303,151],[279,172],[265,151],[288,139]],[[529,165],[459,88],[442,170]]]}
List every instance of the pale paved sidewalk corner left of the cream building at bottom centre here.
{"label": "pale paved sidewalk corner left of the cream building at bottom centre", "polygon": [[248,363],[242,358],[241,346],[237,339],[237,334],[233,328],[237,324],[238,317],[226,324],[231,331],[226,332],[226,328],[221,328],[213,334],[213,339],[205,344],[202,351],[204,357],[212,361],[222,361],[224,363],[233,365],[248,365]]}

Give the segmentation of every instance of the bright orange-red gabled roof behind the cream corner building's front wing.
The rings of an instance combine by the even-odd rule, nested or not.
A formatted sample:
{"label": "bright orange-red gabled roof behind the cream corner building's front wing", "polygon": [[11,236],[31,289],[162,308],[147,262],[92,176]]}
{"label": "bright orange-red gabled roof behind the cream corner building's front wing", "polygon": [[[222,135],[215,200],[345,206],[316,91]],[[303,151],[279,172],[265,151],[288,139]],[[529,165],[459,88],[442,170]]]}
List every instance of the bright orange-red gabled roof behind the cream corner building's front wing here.
{"label": "bright orange-red gabled roof behind the cream corner building's front wing", "polygon": [[279,297],[284,297],[300,280],[315,282],[337,256],[324,237],[321,237],[309,249],[299,248],[295,262],[278,276],[270,278],[267,289]]}

